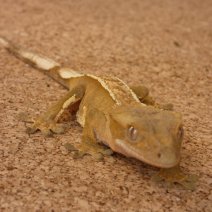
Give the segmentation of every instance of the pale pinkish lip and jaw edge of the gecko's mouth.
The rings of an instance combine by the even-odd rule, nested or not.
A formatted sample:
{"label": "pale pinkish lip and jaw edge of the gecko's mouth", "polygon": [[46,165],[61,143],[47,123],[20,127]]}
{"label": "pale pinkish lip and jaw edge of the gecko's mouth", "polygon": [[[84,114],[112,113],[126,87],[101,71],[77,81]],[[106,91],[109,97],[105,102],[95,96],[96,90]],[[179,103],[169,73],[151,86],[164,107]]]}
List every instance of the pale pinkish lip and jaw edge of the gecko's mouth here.
{"label": "pale pinkish lip and jaw edge of the gecko's mouth", "polygon": [[127,156],[127,157],[132,157],[132,158],[136,158],[140,161],[143,161],[149,165],[152,166],[156,166],[159,168],[171,168],[176,166],[179,163],[179,159],[173,160],[173,162],[161,162],[159,159],[154,162],[152,160],[152,158],[147,158],[146,156],[144,156],[139,150],[137,150],[135,147],[127,144],[125,141],[120,140],[120,139],[116,139],[116,145],[119,147],[120,149],[120,153]]}

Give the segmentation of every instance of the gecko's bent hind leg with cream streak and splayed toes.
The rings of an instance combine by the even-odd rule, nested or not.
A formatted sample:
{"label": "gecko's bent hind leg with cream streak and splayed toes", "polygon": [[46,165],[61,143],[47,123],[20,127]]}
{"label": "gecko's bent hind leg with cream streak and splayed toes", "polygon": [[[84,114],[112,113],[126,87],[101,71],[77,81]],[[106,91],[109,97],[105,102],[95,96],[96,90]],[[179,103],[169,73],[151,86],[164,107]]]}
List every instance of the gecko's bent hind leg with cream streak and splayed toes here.
{"label": "gecko's bent hind leg with cream streak and splayed toes", "polygon": [[63,133],[66,126],[61,121],[67,120],[70,113],[75,109],[77,102],[83,98],[84,88],[77,87],[69,91],[55,105],[50,107],[44,114],[35,119],[28,133],[35,133],[40,130],[45,135],[52,133]]}

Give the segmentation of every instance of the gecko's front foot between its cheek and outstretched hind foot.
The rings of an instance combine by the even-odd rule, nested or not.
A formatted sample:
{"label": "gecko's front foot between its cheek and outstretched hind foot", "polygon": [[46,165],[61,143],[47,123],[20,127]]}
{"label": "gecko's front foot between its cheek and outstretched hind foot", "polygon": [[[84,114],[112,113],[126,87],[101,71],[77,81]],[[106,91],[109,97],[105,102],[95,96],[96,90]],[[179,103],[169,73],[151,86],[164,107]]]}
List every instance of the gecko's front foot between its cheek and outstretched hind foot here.
{"label": "gecko's front foot between its cheek and outstretched hind foot", "polygon": [[105,156],[110,156],[113,151],[106,146],[98,143],[82,142],[77,147],[72,144],[65,144],[64,147],[69,151],[73,152],[73,158],[83,158],[85,155],[91,155],[95,160],[102,161]]}

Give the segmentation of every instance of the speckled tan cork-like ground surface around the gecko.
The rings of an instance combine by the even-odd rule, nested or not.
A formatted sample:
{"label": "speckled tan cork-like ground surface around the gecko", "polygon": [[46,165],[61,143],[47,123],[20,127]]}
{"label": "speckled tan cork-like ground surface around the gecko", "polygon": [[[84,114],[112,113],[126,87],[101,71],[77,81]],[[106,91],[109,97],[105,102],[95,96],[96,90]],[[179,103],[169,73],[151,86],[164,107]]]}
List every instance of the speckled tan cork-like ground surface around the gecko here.
{"label": "speckled tan cork-like ground surface around the gecko", "polygon": [[29,136],[20,112],[40,114],[65,90],[0,48],[0,211],[212,211],[211,0],[1,0],[1,34],[85,73],[145,84],[184,117],[183,170],[196,191],[156,184],[156,168],[115,154],[72,159],[65,135]]}

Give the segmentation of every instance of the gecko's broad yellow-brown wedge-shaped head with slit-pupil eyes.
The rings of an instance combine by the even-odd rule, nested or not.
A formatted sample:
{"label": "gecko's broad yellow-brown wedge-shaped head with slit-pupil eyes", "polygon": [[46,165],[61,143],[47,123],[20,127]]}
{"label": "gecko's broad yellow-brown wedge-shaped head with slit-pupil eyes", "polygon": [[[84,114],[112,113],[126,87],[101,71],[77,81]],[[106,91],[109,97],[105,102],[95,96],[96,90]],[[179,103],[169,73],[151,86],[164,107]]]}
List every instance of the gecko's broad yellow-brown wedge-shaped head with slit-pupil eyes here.
{"label": "gecko's broad yellow-brown wedge-shaped head with slit-pupil eyes", "polygon": [[181,114],[139,105],[119,106],[110,116],[115,151],[161,168],[179,163]]}

